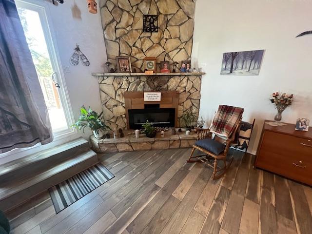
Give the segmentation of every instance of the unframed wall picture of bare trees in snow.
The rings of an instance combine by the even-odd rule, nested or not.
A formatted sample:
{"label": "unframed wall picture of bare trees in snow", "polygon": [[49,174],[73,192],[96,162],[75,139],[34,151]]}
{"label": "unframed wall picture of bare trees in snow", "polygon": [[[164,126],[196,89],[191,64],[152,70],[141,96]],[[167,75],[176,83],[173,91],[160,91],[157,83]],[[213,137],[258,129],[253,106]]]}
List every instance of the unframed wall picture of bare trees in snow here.
{"label": "unframed wall picture of bare trees in snow", "polygon": [[264,50],[229,52],[223,54],[220,75],[259,75]]}

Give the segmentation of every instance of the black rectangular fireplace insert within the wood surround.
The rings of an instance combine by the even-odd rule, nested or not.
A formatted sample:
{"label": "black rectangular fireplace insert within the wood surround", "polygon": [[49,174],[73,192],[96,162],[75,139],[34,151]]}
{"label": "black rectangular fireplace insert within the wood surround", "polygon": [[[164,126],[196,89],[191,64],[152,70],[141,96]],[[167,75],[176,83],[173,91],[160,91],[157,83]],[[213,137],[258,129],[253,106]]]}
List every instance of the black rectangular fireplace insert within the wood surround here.
{"label": "black rectangular fireplace insert within the wood surround", "polygon": [[144,109],[128,110],[130,129],[141,129],[147,120],[155,127],[175,127],[175,108],[159,108],[159,104],[146,104]]}

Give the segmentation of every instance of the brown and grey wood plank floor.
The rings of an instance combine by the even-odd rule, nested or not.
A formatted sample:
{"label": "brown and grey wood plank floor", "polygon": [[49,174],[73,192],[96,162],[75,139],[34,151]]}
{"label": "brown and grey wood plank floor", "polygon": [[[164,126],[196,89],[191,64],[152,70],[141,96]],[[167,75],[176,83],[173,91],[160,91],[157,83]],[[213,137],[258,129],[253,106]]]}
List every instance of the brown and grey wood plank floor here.
{"label": "brown and grey wood plank floor", "polygon": [[12,234],[312,234],[312,188],[252,168],[185,163],[190,149],[101,155],[115,178],[58,215],[48,193],[7,214]]}

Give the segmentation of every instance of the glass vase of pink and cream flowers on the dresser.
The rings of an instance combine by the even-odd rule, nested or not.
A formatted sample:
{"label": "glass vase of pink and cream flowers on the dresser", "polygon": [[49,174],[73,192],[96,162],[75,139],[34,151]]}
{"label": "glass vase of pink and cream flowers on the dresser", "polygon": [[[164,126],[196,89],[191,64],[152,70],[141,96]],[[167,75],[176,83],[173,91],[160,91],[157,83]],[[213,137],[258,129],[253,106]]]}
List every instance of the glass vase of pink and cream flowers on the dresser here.
{"label": "glass vase of pink and cream flowers on the dresser", "polygon": [[275,92],[272,94],[270,101],[275,105],[277,114],[274,117],[276,122],[281,121],[283,111],[293,102],[293,94],[288,95],[286,93]]}

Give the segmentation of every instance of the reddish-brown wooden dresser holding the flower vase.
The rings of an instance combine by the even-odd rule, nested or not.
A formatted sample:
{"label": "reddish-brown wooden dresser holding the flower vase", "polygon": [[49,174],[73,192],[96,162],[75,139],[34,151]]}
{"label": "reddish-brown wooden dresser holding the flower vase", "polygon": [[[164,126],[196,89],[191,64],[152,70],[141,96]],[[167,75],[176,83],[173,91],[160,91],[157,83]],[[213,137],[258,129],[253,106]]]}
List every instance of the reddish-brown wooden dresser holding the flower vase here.
{"label": "reddish-brown wooden dresser holding the flower vase", "polygon": [[303,132],[294,124],[264,123],[255,167],[312,185],[312,127]]}

